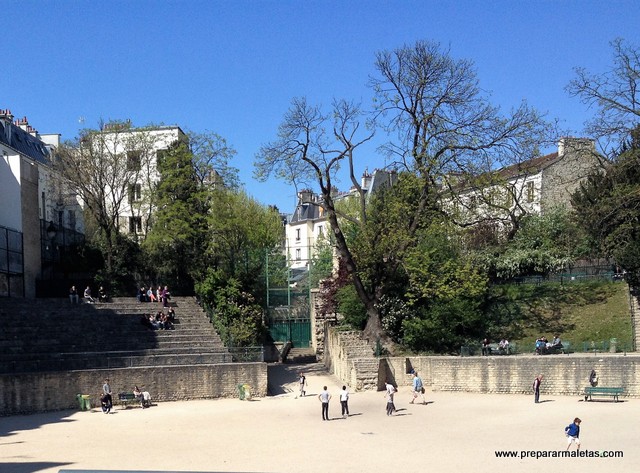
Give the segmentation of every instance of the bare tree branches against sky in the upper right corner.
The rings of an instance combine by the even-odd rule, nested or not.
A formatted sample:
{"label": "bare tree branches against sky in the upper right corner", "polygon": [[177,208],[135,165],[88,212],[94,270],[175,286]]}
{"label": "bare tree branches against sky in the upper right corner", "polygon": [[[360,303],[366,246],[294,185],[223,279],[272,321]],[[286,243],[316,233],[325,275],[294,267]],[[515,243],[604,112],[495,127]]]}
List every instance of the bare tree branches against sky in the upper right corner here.
{"label": "bare tree branches against sky in the upper right corner", "polygon": [[616,155],[632,130],[640,125],[640,49],[621,38],[611,42],[613,65],[601,74],[582,67],[566,90],[595,109],[585,131],[597,139],[610,158]]}

